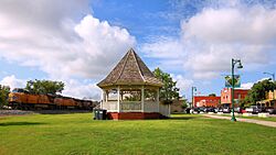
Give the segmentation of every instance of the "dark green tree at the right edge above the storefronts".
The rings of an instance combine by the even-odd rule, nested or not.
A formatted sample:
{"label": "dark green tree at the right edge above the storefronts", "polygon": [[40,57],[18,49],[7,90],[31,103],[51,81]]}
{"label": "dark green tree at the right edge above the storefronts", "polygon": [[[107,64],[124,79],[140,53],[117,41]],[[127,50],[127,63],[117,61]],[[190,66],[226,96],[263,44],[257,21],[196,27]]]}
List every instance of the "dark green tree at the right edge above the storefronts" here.
{"label": "dark green tree at the right edge above the storefronts", "polygon": [[272,80],[262,80],[253,85],[247,97],[245,98],[245,102],[250,102],[251,104],[255,104],[256,101],[264,100],[266,98],[266,92],[269,90],[276,89],[276,82]]}

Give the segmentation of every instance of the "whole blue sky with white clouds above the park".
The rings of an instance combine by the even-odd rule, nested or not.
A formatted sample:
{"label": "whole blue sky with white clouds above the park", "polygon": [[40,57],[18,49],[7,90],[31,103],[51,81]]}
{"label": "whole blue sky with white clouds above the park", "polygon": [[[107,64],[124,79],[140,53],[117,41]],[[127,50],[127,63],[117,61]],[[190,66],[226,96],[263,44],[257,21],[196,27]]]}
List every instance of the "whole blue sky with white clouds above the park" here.
{"label": "whole blue sky with white clouds above the park", "polygon": [[242,86],[275,73],[276,2],[253,0],[13,0],[0,2],[0,82],[66,82],[64,95],[99,99],[95,86],[134,47],[190,98],[224,87],[231,58]]}

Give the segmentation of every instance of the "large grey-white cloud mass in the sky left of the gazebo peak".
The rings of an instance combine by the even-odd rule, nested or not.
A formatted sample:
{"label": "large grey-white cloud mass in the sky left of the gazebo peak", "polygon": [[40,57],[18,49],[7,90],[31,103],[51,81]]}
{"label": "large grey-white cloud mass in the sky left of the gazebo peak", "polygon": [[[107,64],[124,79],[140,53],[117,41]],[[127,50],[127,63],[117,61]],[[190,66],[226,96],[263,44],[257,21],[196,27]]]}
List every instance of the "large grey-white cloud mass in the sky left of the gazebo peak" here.
{"label": "large grey-white cloud mass in the sky left of the gazebo peak", "polygon": [[0,57],[54,78],[103,77],[136,40],[87,10],[86,1],[1,1]]}

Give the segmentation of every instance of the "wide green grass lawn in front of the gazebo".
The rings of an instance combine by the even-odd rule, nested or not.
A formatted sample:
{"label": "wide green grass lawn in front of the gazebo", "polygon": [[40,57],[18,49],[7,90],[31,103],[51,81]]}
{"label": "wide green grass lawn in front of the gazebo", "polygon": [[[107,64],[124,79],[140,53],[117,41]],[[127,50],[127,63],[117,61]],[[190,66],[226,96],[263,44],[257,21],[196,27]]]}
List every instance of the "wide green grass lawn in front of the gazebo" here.
{"label": "wide green grass lawn in front of the gazebo", "polygon": [[0,118],[0,154],[275,154],[276,130],[178,114],[94,121],[88,113]]}

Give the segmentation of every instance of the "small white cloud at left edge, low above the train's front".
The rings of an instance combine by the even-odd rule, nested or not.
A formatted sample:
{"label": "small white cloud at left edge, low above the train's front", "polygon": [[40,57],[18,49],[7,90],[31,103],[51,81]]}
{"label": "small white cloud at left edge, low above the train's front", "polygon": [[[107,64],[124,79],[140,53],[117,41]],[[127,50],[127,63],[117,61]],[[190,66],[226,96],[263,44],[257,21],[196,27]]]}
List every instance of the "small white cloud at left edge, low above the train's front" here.
{"label": "small white cloud at left edge, low above the train's front", "polygon": [[9,86],[11,90],[13,88],[22,88],[25,87],[26,80],[24,79],[18,79],[14,75],[7,76],[4,77],[1,81],[0,85],[3,86]]}

